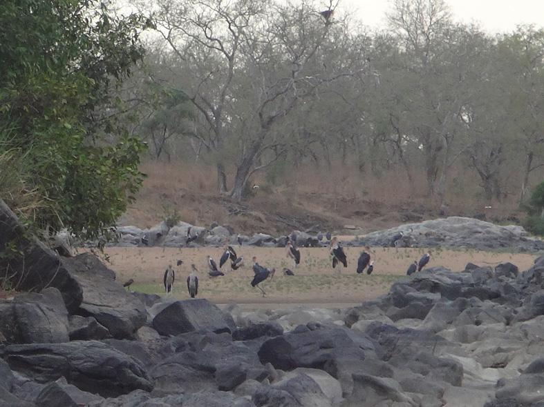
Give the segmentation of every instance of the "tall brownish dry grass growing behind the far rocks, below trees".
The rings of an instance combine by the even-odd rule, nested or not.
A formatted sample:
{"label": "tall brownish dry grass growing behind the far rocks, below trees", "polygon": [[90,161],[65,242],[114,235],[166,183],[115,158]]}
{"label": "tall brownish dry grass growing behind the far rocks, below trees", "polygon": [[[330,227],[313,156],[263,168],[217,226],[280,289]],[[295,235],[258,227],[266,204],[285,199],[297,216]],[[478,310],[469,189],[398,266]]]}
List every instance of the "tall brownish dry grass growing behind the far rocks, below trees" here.
{"label": "tall brownish dry grass growing behind the far rocks, below trees", "polygon": [[[205,226],[212,221],[232,221],[221,206],[216,192],[216,168],[204,163],[163,163],[148,161],[141,166],[148,175],[135,204],[129,210],[137,226],[149,228],[165,216],[165,205],[176,209],[183,221]],[[234,168],[227,169],[232,183]],[[344,217],[353,216],[354,208],[373,204],[382,211],[411,210],[423,206],[435,213],[440,206],[436,195],[429,195],[422,170],[412,169],[410,183],[404,170],[395,168],[381,175],[361,174],[356,166],[333,163],[332,168],[316,168],[312,165],[286,168],[273,181],[267,170],[257,173],[250,183],[259,185],[258,193],[247,203],[254,208],[254,220],[236,219],[241,228],[254,228],[264,224],[259,210],[267,212],[278,208],[297,206],[317,215],[330,215],[331,209],[345,210]],[[512,191],[516,186],[509,187]],[[516,194],[511,193],[503,201],[486,201],[477,177],[463,168],[451,168],[448,188],[444,197],[447,215],[473,216],[477,213],[494,215],[496,219],[517,211]],[[337,205],[337,202],[343,203]],[[485,208],[491,206],[492,208]],[[492,213],[491,213],[492,212]],[[339,216],[343,214],[339,213]],[[492,216],[489,219],[494,219]]]}

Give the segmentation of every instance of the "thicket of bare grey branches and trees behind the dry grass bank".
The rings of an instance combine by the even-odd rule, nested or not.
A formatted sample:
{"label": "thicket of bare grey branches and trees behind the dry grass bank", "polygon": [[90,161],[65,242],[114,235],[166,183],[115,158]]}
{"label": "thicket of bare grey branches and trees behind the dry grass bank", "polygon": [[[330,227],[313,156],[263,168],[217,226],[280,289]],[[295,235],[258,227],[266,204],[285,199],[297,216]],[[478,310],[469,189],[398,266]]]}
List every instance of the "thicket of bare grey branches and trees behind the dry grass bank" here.
{"label": "thicket of bare grey branches and trees behind the dry grass bank", "polygon": [[397,0],[388,29],[368,32],[320,4],[142,7],[158,34],[133,95],[153,157],[216,165],[236,199],[258,170],[337,160],[407,182],[422,170],[439,200],[465,166],[485,199],[525,199],[544,154],[543,30],[491,35],[454,22],[446,1]]}

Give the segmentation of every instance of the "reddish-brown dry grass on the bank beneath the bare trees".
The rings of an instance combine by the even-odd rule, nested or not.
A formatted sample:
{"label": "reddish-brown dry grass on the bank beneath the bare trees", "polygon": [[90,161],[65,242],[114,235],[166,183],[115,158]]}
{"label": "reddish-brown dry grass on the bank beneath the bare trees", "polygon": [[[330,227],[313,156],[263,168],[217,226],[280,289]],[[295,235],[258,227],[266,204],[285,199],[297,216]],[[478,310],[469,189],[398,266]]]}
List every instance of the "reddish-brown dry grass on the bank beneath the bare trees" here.
{"label": "reddish-brown dry grass on the bank beneath the bare trees", "polygon": [[[261,188],[254,197],[243,202],[250,212],[233,216],[223,205],[227,198],[216,193],[214,166],[148,162],[141,169],[149,177],[144,180],[137,201],[127,211],[124,221],[140,228],[158,224],[165,217],[165,205],[175,209],[189,224],[208,226],[218,221],[245,234],[285,234],[292,230],[288,224],[267,219],[271,214],[308,218],[306,226],[299,226],[301,230],[312,224],[313,217],[315,224],[321,224],[319,228],[339,231],[342,226],[352,224],[370,232],[435,218],[439,206],[437,197],[420,192],[426,190],[421,172],[413,172],[411,185],[404,170],[391,170],[377,178],[361,176],[354,168],[333,163],[331,170],[315,166],[296,168],[277,177],[274,183],[267,181],[265,172],[258,173],[250,182]],[[460,168],[450,171],[449,189],[444,199],[447,215],[473,216],[486,212],[487,219],[496,222],[523,216],[516,209],[514,195],[501,203],[482,200],[475,192],[479,191],[477,179],[465,171]],[[491,210],[485,210],[489,205]],[[408,215],[418,206],[425,208],[423,216],[411,219]]]}

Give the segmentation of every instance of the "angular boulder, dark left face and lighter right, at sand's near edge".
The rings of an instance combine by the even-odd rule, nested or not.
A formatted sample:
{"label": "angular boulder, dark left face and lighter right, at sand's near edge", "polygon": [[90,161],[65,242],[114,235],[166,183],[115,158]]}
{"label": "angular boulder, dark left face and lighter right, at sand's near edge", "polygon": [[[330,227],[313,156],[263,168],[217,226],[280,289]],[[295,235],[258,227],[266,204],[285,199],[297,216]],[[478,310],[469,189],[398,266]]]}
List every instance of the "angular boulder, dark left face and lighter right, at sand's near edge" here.
{"label": "angular boulder, dark left face and lighter right, at sand's near edge", "polygon": [[185,299],[175,301],[158,312],[153,318],[153,328],[160,335],[178,335],[199,329],[232,332],[236,324],[230,315],[225,315],[207,299]]}

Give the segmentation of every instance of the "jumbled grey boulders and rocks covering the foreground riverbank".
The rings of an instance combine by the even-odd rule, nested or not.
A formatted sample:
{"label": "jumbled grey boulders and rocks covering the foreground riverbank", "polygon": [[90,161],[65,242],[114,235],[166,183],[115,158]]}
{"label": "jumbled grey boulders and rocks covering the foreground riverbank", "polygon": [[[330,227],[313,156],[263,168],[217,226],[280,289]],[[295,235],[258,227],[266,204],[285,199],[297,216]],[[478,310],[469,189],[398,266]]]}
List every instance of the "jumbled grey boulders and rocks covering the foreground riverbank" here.
{"label": "jumbled grey boulders and rocks covering the foreground riverbank", "polygon": [[433,266],[348,309],[244,312],[127,292],[6,208],[0,225],[20,245],[1,266],[33,291],[0,303],[0,406],[544,404],[544,257]]}

